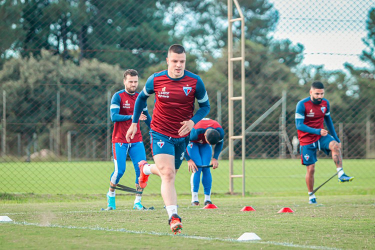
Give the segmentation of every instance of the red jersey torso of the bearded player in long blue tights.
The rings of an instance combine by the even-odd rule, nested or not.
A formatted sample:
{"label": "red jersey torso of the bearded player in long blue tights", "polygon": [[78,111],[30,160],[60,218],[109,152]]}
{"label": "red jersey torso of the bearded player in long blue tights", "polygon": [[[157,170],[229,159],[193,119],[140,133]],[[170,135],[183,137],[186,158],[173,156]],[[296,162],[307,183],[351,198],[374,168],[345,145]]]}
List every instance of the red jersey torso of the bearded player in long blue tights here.
{"label": "red jersey torso of the bearded player in long blue tights", "polygon": [[[127,92],[123,91],[121,93],[115,93],[115,94],[118,94],[121,99],[119,114],[132,115],[134,111],[135,99],[138,96],[138,92],[135,92],[134,94],[128,94]],[[126,131],[129,128],[130,124],[131,124],[131,119],[114,122],[113,133],[112,133],[112,143],[115,143],[115,142],[128,143],[126,140]],[[134,138],[130,141],[130,143],[142,141],[142,134],[140,132],[139,121],[136,127],[137,127],[137,131],[134,135]]]}

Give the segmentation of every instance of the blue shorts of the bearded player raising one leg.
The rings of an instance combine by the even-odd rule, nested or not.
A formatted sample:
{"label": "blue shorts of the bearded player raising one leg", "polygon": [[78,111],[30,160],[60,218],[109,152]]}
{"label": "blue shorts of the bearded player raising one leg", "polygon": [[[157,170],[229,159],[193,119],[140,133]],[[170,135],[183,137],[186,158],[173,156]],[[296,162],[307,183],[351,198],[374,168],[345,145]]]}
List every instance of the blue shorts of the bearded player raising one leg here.
{"label": "blue shorts of the bearded player raising one leg", "polygon": [[326,155],[328,155],[330,152],[329,142],[331,142],[332,140],[334,140],[332,135],[327,134],[325,136],[321,136],[320,139],[311,144],[299,146],[299,151],[301,153],[301,164],[306,166],[314,164],[317,161],[317,149],[323,151]]}

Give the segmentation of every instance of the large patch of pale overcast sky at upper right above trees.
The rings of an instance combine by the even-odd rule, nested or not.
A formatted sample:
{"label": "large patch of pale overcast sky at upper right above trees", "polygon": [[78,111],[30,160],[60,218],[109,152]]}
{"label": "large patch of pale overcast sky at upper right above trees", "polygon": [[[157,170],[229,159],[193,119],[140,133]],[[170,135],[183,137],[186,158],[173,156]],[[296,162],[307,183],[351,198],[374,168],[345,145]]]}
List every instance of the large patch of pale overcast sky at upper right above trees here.
{"label": "large patch of pale overcast sky at upper right above trees", "polygon": [[279,11],[274,38],[289,38],[305,47],[304,64],[342,69],[344,62],[365,67],[368,11],[375,0],[269,0]]}

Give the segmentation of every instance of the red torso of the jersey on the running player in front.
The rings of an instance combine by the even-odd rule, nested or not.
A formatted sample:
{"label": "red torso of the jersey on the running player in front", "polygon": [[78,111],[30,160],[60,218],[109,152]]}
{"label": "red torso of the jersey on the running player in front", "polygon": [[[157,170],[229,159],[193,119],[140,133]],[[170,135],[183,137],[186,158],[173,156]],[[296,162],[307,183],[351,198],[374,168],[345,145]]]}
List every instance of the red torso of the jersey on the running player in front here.
{"label": "red torso of the jersey on the running player in front", "polygon": [[[170,79],[166,74],[156,74],[153,79],[155,106],[151,129],[164,135],[180,138],[181,121],[191,119],[194,111],[197,79],[184,75]],[[185,135],[186,136],[186,135]]]}

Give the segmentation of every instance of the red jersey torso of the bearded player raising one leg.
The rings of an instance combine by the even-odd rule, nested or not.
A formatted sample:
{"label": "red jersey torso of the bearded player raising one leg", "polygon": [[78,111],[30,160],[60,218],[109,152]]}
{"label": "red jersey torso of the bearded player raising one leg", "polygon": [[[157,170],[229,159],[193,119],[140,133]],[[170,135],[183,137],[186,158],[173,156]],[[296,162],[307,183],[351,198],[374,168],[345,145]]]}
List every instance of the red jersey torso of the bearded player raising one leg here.
{"label": "red jersey torso of the bearded player raising one leg", "polygon": [[[304,105],[303,123],[313,128],[324,128],[324,116],[328,111],[327,101],[322,100],[320,104],[314,104],[309,98],[300,103]],[[308,133],[297,130],[300,145],[311,144],[320,139],[320,134]]]}

